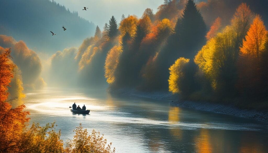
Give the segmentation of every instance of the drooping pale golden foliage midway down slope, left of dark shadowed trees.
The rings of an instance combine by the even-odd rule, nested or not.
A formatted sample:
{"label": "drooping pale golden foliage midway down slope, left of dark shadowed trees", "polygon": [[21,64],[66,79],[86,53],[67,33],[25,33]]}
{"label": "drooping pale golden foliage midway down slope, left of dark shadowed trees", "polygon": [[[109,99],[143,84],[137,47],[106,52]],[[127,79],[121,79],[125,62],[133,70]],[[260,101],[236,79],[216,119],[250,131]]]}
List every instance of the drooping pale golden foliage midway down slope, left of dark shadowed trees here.
{"label": "drooping pale golden foliage midway down slope, left of dark shadowed trees", "polygon": [[119,63],[119,57],[122,53],[121,46],[114,46],[107,54],[105,60],[105,78],[107,83],[112,84],[115,81],[114,72]]}

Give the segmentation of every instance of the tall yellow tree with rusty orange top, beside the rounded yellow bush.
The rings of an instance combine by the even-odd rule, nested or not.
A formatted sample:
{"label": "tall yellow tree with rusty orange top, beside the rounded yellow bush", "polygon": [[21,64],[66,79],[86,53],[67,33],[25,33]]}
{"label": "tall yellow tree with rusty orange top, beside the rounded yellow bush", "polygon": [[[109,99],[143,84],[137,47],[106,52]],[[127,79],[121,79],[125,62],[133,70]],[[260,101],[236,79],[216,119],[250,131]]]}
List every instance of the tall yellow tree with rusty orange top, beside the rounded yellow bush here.
{"label": "tall yellow tree with rusty orange top, beside the rounded yellow bush", "polygon": [[242,3],[231,20],[231,25],[211,38],[195,57],[195,63],[210,80],[218,96],[232,98],[237,94],[237,59],[239,48],[250,27],[252,12]]}

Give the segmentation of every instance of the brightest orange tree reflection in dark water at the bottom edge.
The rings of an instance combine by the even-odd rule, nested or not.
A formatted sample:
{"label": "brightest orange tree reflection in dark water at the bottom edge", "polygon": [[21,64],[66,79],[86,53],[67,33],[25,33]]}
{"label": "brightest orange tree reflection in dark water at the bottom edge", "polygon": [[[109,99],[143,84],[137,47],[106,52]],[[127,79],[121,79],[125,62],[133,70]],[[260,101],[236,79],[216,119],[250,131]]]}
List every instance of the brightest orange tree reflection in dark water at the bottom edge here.
{"label": "brightest orange tree reflection in dark water at the bottom edge", "polygon": [[207,129],[200,130],[200,135],[195,138],[195,146],[198,153],[212,152],[211,138]]}

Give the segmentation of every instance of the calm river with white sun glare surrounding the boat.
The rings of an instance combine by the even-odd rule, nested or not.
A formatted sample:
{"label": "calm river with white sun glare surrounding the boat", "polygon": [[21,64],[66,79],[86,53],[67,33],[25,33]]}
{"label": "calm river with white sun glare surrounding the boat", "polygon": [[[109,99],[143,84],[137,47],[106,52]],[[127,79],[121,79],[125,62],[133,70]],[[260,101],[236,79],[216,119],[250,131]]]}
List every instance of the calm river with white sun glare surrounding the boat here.
{"label": "calm river with white sun glare surrounding the boat", "polygon": [[[70,112],[73,102],[89,115]],[[104,134],[120,153],[268,152],[268,124],[226,114],[174,107],[168,100],[114,96],[101,89],[46,88],[27,94],[31,121],[56,122],[61,139],[82,123]]]}

